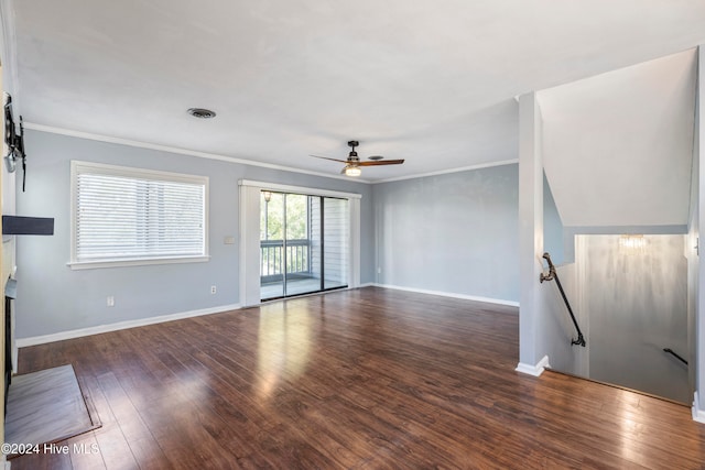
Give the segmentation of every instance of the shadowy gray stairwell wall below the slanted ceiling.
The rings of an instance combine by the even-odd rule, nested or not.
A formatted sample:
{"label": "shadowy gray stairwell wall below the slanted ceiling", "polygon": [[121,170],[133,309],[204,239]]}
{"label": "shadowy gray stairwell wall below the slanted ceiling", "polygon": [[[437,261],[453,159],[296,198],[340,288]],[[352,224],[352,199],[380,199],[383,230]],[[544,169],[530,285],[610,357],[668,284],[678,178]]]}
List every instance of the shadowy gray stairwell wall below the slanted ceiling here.
{"label": "shadowy gray stairwell wall below the slanted ceiling", "polygon": [[587,376],[688,403],[683,234],[579,236]]}

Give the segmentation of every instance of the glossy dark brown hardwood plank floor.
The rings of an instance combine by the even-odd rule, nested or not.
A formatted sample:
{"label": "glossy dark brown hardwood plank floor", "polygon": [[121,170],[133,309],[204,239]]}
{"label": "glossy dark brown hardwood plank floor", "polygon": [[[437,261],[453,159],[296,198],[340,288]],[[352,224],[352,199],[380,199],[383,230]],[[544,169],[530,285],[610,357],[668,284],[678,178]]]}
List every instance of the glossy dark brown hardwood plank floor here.
{"label": "glossy dark brown hardwood plank floor", "polygon": [[[702,469],[685,406],[518,362],[517,308],[382,288],[20,351],[102,427],[12,469]],[[93,447],[91,447],[93,446]]]}

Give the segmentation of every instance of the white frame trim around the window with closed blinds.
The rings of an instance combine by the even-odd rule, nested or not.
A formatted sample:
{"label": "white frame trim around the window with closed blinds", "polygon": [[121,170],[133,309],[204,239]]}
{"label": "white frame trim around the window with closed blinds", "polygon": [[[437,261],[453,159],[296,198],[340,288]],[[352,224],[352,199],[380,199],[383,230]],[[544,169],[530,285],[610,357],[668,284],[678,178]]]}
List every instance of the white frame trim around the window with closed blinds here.
{"label": "white frame trim around the window with closed blinds", "polygon": [[[78,261],[76,259],[76,217],[77,217],[77,175],[82,168],[95,170],[100,174],[124,177],[145,177],[176,183],[203,184],[204,190],[204,254],[196,256],[154,256],[119,260]],[[72,270],[93,270],[101,267],[141,266],[151,264],[199,263],[210,260],[208,248],[209,233],[209,178],[207,176],[187,175],[183,173],[162,172],[156,170],[135,168],[129,166],[108,165],[105,163],[70,161],[70,260],[66,265]]]}

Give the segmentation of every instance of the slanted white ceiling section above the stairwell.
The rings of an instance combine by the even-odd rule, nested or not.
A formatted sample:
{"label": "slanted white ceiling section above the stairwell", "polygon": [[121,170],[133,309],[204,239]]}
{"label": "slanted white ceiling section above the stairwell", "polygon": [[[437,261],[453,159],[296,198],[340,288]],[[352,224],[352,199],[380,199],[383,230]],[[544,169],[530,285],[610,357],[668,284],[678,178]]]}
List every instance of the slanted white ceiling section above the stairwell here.
{"label": "slanted white ceiling section above the stairwell", "polygon": [[691,50],[538,94],[563,225],[687,223],[696,70]]}

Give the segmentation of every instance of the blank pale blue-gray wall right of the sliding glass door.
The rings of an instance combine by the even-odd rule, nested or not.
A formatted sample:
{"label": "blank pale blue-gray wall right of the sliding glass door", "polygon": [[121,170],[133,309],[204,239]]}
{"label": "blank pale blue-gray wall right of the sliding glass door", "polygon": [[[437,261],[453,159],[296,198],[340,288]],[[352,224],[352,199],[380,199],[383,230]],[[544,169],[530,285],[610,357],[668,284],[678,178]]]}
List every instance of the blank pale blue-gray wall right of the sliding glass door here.
{"label": "blank pale blue-gray wall right of the sliding glass door", "polygon": [[519,300],[518,165],[375,185],[380,284]]}

